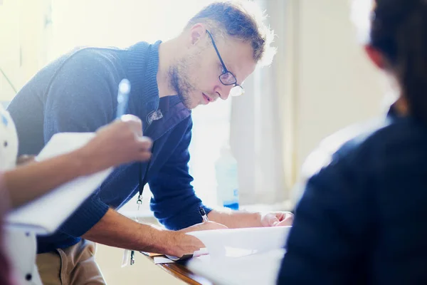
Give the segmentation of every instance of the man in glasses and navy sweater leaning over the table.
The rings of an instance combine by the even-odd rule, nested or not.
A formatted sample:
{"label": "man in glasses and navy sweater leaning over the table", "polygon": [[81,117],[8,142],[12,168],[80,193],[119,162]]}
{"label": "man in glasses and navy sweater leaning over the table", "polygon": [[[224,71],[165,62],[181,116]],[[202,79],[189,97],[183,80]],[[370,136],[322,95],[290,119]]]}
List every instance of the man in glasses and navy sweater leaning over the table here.
{"label": "man in glasses and navy sweater leaning over the table", "polygon": [[[54,133],[91,132],[110,123],[122,78],[131,84],[127,113],[141,118],[144,135],[153,140],[150,162],[117,167],[56,234],[38,238],[43,283],[90,279],[103,284],[97,265],[85,262],[93,255],[92,242],[181,256],[203,247],[185,232],[290,224],[292,215],[286,212],[212,210],[190,184],[191,109],[243,94],[241,84],[255,66],[270,62],[272,31],[262,16],[253,3],[214,3],[170,41],[80,48],[43,68],[20,90],[9,105],[20,153],[37,153]],[[138,193],[140,198],[146,183],[155,217],[170,230],[115,211]],[[211,222],[202,223],[199,207]]]}

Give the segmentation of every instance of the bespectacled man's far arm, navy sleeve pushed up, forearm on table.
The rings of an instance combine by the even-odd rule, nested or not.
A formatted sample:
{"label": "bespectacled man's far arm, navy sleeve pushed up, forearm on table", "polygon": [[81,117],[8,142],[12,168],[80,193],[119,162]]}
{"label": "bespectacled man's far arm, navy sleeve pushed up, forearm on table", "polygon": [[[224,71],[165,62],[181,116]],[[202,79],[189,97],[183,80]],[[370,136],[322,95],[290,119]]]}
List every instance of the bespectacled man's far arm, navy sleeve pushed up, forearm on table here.
{"label": "bespectacled man's far arm, navy sleeve pushed up, forearm on table", "polygon": [[[186,123],[186,125],[184,125]],[[173,151],[169,160],[151,180],[149,186],[153,193],[151,209],[159,222],[168,229],[183,229],[201,222],[199,207],[205,207],[209,220],[228,228],[270,227],[292,224],[289,212],[243,212],[227,209],[211,209],[202,204],[191,186],[193,177],[189,175],[189,144],[191,141],[191,118],[176,128],[186,128],[184,137]],[[181,130],[176,130],[177,133]],[[280,223],[280,224],[279,224]]]}

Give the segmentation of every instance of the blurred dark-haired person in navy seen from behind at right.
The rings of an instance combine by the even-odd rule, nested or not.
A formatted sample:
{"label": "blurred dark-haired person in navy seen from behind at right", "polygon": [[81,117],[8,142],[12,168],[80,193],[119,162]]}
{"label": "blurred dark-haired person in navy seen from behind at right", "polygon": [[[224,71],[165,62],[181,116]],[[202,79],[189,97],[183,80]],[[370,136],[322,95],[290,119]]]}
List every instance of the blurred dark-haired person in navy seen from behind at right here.
{"label": "blurred dark-haired person in navy seen from behind at right", "polygon": [[427,1],[354,5],[398,96],[307,181],[278,284],[427,284]]}

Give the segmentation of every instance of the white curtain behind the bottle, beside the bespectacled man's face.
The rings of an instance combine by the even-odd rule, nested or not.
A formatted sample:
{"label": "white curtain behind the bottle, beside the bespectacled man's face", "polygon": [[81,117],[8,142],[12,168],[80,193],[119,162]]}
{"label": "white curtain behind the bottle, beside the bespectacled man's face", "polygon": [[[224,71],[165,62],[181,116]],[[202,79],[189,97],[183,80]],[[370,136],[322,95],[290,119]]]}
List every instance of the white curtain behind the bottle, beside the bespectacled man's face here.
{"label": "white curtain behind the bottle, beside the bespectacled man's face", "polygon": [[288,199],[285,179],[285,90],[280,78],[285,53],[288,1],[257,0],[270,16],[278,47],[272,66],[257,68],[246,80],[245,95],[233,98],[231,147],[238,160],[241,204],[275,204]]}

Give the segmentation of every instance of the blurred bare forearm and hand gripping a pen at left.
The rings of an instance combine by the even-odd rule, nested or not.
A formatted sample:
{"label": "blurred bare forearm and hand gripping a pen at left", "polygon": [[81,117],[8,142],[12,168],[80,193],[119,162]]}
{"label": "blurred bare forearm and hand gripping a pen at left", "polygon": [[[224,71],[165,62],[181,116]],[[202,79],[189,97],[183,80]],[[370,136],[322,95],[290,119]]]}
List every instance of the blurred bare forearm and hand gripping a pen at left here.
{"label": "blurred bare forearm and hand gripping a pen at left", "polygon": [[80,175],[90,175],[125,162],[148,160],[151,141],[141,137],[141,128],[138,118],[127,115],[98,130],[95,138],[78,150],[4,172],[11,208],[36,199]]}

